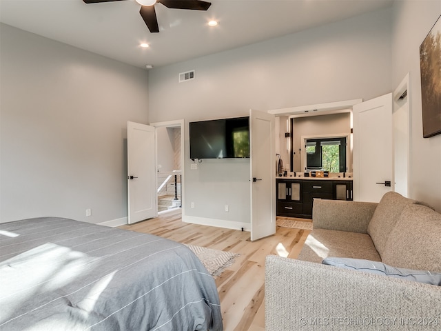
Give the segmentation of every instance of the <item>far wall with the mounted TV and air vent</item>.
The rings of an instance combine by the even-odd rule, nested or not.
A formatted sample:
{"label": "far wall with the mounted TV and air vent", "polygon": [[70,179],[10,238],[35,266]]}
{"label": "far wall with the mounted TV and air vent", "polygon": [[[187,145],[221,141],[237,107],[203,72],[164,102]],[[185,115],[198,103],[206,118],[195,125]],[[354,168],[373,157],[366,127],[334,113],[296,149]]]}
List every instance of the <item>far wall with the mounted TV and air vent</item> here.
{"label": "far wall with the mounted TV and air vent", "polygon": [[[151,121],[237,117],[391,92],[391,11],[360,17],[155,68],[149,74]],[[178,74],[195,79],[178,83]],[[249,221],[249,163],[212,160],[190,170],[185,137],[185,217]],[[195,201],[195,208],[189,203]],[[204,206],[198,210],[196,203]],[[220,212],[229,201],[228,214]]]}

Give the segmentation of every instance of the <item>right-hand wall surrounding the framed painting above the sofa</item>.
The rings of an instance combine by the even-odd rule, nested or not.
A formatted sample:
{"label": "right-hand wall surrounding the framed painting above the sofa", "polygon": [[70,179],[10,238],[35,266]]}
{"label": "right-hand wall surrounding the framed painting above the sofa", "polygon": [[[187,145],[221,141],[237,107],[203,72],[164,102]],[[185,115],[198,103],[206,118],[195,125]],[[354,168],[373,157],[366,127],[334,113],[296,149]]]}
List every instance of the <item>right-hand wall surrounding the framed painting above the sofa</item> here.
{"label": "right-hand wall surrounding the framed painting above the sofa", "polygon": [[392,87],[407,72],[411,100],[411,198],[441,212],[441,134],[422,137],[420,44],[441,15],[440,0],[401,0],[393,5]]}

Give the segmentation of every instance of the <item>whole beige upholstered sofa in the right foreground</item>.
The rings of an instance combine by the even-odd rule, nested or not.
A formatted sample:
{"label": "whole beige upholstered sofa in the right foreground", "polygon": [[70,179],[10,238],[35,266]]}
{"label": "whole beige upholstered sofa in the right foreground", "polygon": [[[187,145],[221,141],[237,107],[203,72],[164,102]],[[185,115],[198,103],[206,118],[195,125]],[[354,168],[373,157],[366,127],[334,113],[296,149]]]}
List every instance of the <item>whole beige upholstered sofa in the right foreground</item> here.
{"label": "whole beige upholstered sofa in the right foreground", "polygon": [[389,192],[380,203],[316,199],[313,220],[298,260],[267,257],[265,330],[441,330],[441,286],[321,264],[342,257],[439,275],[441,214]]}

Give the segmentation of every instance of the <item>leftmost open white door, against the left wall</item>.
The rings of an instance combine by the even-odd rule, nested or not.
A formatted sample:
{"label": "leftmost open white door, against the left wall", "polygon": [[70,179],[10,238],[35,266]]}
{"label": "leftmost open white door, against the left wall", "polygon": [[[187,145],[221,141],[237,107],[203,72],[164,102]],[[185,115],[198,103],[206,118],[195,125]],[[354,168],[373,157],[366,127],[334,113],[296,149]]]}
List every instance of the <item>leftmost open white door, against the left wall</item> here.
{"label": "leftmost open white door, against the left wall", "polygon": [[153,126],[127,122],[127,192],[129,224],[158,215]]}

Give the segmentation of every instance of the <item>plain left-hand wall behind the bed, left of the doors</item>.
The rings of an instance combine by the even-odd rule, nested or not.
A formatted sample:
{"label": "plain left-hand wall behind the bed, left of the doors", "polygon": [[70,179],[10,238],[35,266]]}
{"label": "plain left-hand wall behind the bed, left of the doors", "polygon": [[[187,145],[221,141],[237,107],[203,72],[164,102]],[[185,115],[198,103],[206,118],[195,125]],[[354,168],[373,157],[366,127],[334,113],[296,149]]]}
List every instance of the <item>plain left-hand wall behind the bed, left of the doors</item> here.
{"label": "plain left-hand wall behind the bed, left of the doors", "polygon": [[0,221],[124,221],[126,123],[148,121],[147,72],[4,24],[0,33]]}

